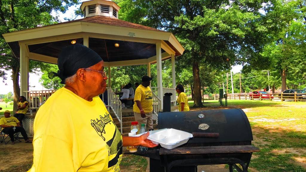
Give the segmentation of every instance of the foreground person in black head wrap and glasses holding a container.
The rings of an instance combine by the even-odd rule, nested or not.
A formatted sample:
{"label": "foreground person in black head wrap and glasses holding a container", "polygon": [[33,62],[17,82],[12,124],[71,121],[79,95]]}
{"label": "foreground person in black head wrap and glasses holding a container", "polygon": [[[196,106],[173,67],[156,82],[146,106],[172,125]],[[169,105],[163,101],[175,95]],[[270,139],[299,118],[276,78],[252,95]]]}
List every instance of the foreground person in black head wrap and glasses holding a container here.
{"label": "foreground person in black head wrap and glasses holding a container", "polygon": [[65,86],[37,111],[28,172],[120,171],[123,146],[157,146],[147,139],[149,133],[121,136],[98,97],[106,90],[107,76],[95,51],[81,44],[64,47],[57,64],[58,72],[48,77],[59,77]]}

